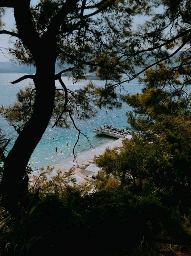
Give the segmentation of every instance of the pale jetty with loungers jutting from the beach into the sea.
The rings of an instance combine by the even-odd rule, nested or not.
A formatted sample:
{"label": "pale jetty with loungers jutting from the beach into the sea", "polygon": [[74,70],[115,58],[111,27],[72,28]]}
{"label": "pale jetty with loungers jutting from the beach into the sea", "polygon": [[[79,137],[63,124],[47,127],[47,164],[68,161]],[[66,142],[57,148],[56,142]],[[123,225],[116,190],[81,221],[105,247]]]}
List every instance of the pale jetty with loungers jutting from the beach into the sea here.
{"label": "pale jetty with loungers jutting from the beach into the sea", "polygon": [[109,135],[115,138],[128,138],[128,137],[129,139],[131,138],[131,135],[127,130],[124,131],[124,129],[117,128],[111,124],[105,124],[105,125],[93,127],[93,132],[100,135],[101,134]]}

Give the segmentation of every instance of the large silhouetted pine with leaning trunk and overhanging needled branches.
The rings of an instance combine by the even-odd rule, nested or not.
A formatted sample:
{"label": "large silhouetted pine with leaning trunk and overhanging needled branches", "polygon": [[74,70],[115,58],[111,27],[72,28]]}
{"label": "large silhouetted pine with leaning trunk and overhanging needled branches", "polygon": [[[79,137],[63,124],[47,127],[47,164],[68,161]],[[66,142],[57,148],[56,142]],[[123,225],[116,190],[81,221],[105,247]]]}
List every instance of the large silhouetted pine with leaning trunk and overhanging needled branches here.
{"label": "large silhouetted pine with leaning trunk and overhanging needled branches", "polygon": [[[162,12],[158,12],[160,6],[163,6]],[[0,34],[11,36],[13,47],[8,48],[8,52],[14,60],[32,64],[37,69],[34,76],[27,75],[12,82],[30,78],[34,88],[20,91],[16,104],[1,108],[2,115],[19,134],[3,160],[2,191],[17,190],[15,180],[10,182],[9,172],[14,168],[13,162],[21,164],[21,158],[18,183],[22,187],[28,160],[48,124],[68,127],[69,119],[76,127],[72,116],[90,118],[96,114],[93,105],[109,109],[120,107],[122,97],[116,88],[123,87],[125,81],[152,67],[156,68],[153,69],[153,79],[160,69],[165,78],[160,74],[158,80],[163,79],[164,86],[171,80],[174,96],[189,86],[191,28],[188,0],[175,3],[163,0],[46,0],[34,6],[29,0],[9,0],[1,1],[0,7],[2,14],[4,8],[13,8],[16,21],[12,31],[0,30]],[[150,17],[134,29],[132,22],[136,15]],[[54,74],[56,61],[60,67],[67,64],[69,68]],[[164,68],[161,69],[161,65],[165,65]],[[135,68],[141,68],[141,71],[136,72]],[[75,83],[84,78],[87,69],[96,71],[106,81],[105,87],[97,88],[90,83],[86,88],[70,91],[61,79],[62,73],[70,71]],[[44,76],[45,73],[48,76]],[[183,82],[177,82],[177,76],[181,76]],[[55,88],[55,80],[59,80],[62,89]],[[76,129],[80,136],[80,130]],[[28,151],[23,152],[29,134],[32,137],[27,144]]]}

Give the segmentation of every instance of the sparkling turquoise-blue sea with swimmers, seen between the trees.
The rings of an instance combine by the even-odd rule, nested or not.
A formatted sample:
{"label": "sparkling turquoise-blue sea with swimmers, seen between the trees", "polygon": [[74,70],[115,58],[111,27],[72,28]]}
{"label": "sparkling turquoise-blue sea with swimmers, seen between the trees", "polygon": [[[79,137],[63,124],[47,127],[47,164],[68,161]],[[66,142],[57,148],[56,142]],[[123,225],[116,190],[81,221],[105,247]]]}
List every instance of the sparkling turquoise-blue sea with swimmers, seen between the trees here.
{"label": "sparkling turquoise-blue sea with swimmers, seen between the trees", "polygon": [[[16,94],[20,89],[25,89],[29,86],[29,82],[32,83],[32,80],[26,79],[20,83],[12,85],[10,82],[22,77],[24,74],[0,74],[0,104],[9,106],[16,101]],[[81,80],[73,85],[72,79],[68,77],[62,77],[62,80],[71,90],[79,89],[86,85],[89,80]],[[96,85],[104,85],[104,81],[93,80],[93,83]],[[56,86],[60,87],[59,82],[56,81]],[[128,90],[130,94],[135,92],[140,92],[141,87],[137,80],[131,81],[129,83],[124,83],[125,90]],[[99,111],[96,117],[91,118],[90,120],[76,120],[77,127],[86,135],[88,135],[89,140],[94,148],[102,146],[111,140],[116,140],[115,138],[106,136],[106,135],[97,135],[92,132],[94,126],[100,124],[113,124],[120,128],[126,128],[127,117],[125,113],[131,108],[127,104],[123,104],[121,109],[114,109],[113,111],[105,111],[102,109]],[[14,128],[8,124],[8,122],[0,117],[0,126],[5,134],[11,138],[8,150],[14,144],[18,134],[14,131]],[[71,129],[62,129],[62,128],[51,128],[47,127],[46,132],[42,136],[42,141],[39,141],[36,149],[34,150],[29,163],[31,166],[40,168],[42,166],[47,166],[51,164],[58,164],[59,162],[66,161],[73,157],[72,149],[77,140],[78,132],[71,126]],[[53,139],[54,138],[54,139]],[[30,140],[30,134],[29,134]],[[67,147],[68,143],[68,147]],[[90,144],[88,140],[80,135],[80,140],[78,142],[79,147],[76,147],[76,154],[81,155],[85,151],[90,150]],[[55,148],[58,148],[58,152],[55,152]],[[26,148],[27,150],[27,148]],[[62,153],[61,153],[62,151]]]}

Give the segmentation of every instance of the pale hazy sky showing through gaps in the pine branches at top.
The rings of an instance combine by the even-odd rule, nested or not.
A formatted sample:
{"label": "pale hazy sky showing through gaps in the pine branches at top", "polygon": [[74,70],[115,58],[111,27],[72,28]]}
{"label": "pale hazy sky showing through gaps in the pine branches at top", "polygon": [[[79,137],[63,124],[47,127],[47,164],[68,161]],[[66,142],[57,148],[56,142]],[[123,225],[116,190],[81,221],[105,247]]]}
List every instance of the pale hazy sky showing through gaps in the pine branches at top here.
{"label": "pale hazy sky showing through gaps in the pine branches at top", "polygon": [[[38,0],[31,0],[31,4],[36,4],[38,2]],[[22,13],[21,13],[22,15]],[[140,24],[140,23],[143,23],[145,20],[145,17],[144,16],[139,16],[139,17],[135,17],[134,18],[134,23],[135,25],[136,24]],[[3,22],[6,24],[6,27],[4,29],[6,30],[11,30],[11,28],[13,28],[13,25],[14,25],[14,15],[13,15],[13,9],[12,8],[7,8],[6,10],[6,15],[4,16],[3,18]],[[24,22],[24,21],[23,21]],[[4,47],[4,48],[8,48],[9,47],[9,38],[10,38],[10,35],[0,35],[0,47]],[[9,61],[8,58],[9,57],[9,54],[7,54],[7,51],[3,48],[0,48],[2,50],[0,50],[0,61]],[[7,58],[6,58],[7,57]]]}

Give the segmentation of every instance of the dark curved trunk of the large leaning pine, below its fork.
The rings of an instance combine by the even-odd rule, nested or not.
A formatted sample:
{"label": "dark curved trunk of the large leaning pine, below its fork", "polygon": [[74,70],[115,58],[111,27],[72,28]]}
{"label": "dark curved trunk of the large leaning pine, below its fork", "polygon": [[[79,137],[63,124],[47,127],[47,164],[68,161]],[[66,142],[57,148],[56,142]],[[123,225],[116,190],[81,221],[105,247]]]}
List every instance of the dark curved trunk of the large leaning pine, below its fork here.
{"label": "dark curved trunk of the large leaning pine, below its fork", "polygon": [[[48,67],[44,63],[48,63]],[[30,120],[24,125],[4,162],[1,194],[18,198],[23,193],[23,177],[28,161],[45,132],[54,107],[55,61],[40,60],[34,78],[36,99]]]}

